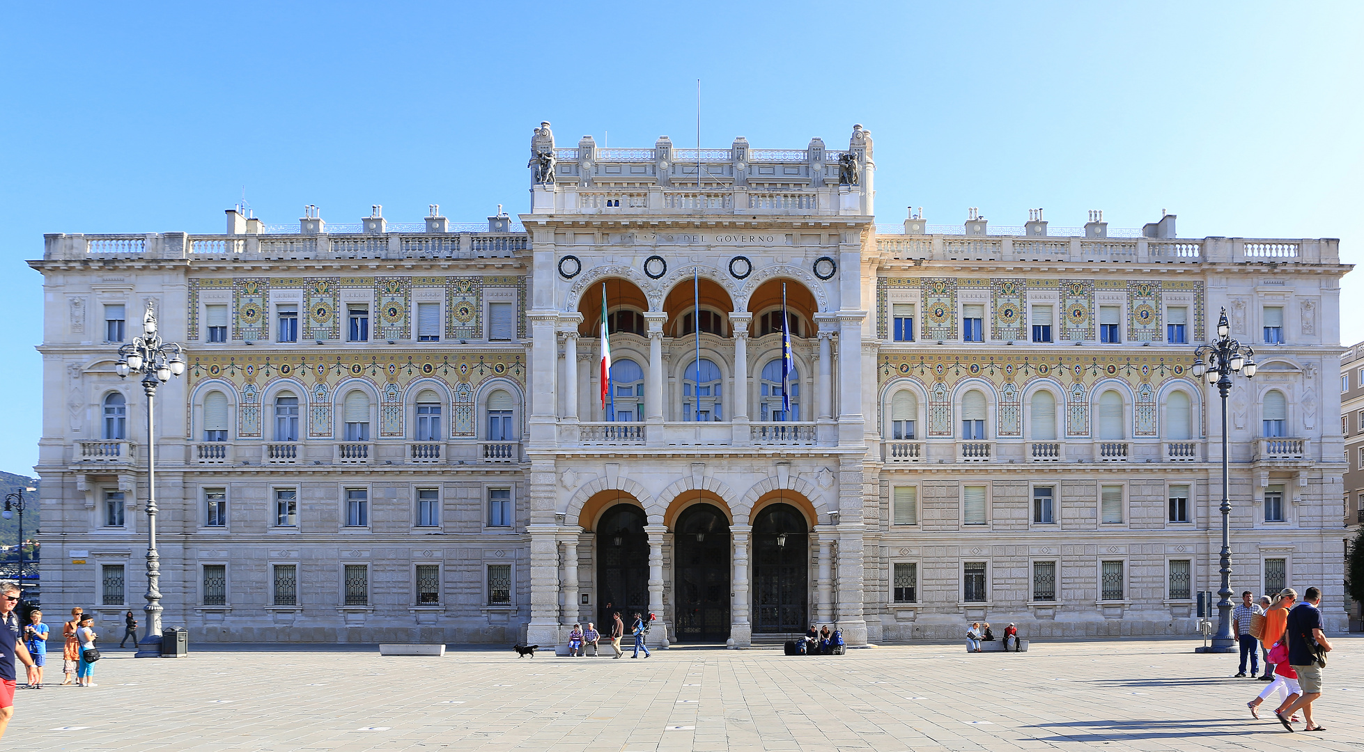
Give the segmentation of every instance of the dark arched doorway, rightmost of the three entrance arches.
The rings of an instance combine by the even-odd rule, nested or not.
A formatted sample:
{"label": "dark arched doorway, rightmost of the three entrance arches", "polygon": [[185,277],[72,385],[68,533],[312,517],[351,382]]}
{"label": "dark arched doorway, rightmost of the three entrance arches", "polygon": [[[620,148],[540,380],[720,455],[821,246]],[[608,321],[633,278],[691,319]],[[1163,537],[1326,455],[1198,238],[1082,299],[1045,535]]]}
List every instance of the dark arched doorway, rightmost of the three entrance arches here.
{"label": "dark arched doorway, rightmost of the three entrance arches", "polygon": [[809,621],[810,533],[790,504],[771,504],[753,522],[753,632],[805,632]]}

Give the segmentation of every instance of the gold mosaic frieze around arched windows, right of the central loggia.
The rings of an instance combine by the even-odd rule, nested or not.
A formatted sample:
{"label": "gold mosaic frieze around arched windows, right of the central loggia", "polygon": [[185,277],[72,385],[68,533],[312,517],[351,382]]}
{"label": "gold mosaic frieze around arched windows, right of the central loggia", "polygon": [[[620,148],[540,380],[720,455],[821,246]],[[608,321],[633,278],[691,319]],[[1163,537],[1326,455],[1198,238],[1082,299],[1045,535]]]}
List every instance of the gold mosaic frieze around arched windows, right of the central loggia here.
{"label": "gold mosaic frieze around arched windows, right of the central loggia", "polygon": [[1135,436],[1157,435],[1157,395],[1168,381],[1198,388],[1189,375],[1194,356],[979,354],[933,357],[883,351],[877,386],[911,379],[928,394],[928,436],[953,436],[952,395],[966,379],[988,381],[997,405],[997,435],[1022,436],[1022,395],[1035,380],[1065,394],[1067,436],[1090,435],[1090,398],[1095,386],[1123,381],[1135,403]]}

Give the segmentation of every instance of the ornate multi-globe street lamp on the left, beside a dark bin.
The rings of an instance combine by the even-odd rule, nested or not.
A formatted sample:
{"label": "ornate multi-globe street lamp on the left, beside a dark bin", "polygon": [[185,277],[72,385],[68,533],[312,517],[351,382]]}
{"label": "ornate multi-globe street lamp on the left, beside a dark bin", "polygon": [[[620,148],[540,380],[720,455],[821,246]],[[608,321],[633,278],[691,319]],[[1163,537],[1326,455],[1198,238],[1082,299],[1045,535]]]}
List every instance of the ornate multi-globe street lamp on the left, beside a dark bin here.
{"label": "ornate multi-globe street lamp on the left, beside a dark bin", "polygon": [[184,347],[176,342],[162,342],[157,334],[157,315],[147,302],[142,317],[142,336],[119,347],[119,362],[113,369],[120,377],[142,373],[142,390],[147,394],[147,633],[142,638],[138,658],[161,657],[161,557],[157,554],[157,441],[153,433],[151,406],[157,387],[172,376],[184,373]]}

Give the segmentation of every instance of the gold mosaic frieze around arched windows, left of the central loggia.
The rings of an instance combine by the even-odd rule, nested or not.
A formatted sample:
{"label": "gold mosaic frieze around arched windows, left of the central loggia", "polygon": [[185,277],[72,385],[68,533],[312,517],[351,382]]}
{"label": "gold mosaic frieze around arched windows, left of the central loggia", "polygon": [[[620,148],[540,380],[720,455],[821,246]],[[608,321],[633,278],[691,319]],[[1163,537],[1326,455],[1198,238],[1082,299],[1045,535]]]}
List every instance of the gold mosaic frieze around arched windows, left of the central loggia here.
{"label": "gold mosaic frieze around arched windows, left of the central loggia", "polygon": [[451,399],[451,439],[476,435],[473,398],[491,379],[505,379],[527,388],[527,366],[521,353],[383,353],[331,356],[266,356],[244,353],[191,354],[186,368],[191,391],[205,380],[226,381],[236,391],[237,436],[262,437],[261,395],[277,381],[303,384],[307,401],[307,435],[333,437],[333,403],[341,381],[363,379],[379,395],[379,437],[406,435],[404,395],[419,380],[446,387]]}

